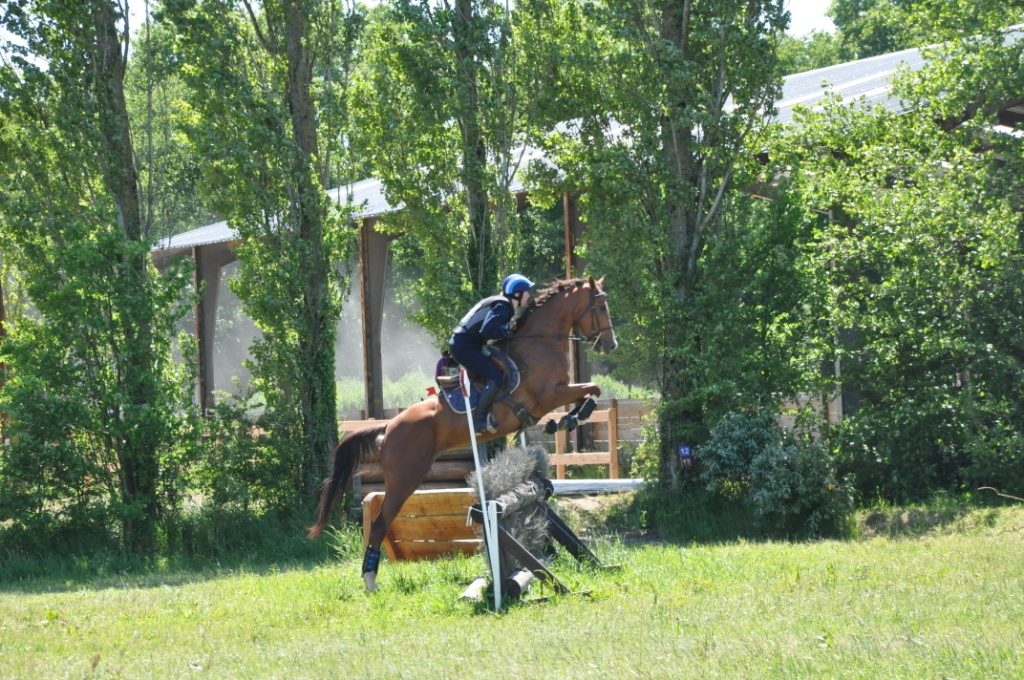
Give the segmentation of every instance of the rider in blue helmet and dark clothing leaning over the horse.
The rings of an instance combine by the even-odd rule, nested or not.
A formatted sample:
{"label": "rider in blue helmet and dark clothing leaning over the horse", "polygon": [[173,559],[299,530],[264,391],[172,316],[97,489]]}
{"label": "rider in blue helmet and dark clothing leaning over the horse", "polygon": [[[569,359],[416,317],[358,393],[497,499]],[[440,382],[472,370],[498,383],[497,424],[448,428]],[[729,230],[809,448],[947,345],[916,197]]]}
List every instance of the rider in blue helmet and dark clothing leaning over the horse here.
{"label": "rider in blue helmet and dark clothing leaning over the horse", "polygon": [[516,310],[529,300],[529,289],[534,282],[521,273],[512,273],[502,281],[500,295],[483,298],[470,309],[449,340],[452,356],[470,373],[486,382],[480,391],[480,401],[476,407],[474,424],[477,430],[494,429],[488,417],[490,406],[498,395],[502,373],[483,353],[483,345],[488,341],[512,337],[509,323]]}

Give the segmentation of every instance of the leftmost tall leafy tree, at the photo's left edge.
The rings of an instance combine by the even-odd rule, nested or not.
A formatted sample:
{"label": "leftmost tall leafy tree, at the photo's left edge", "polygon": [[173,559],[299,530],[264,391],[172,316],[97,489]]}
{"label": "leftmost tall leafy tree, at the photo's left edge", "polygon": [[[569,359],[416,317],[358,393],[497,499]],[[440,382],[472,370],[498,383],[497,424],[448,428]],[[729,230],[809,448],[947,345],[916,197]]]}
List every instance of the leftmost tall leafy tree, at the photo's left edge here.
{"label": "leftmost tall leafy tree, at the photo's left edge", "polygon": [[125,103],[127,19],[110,0],[9,2],[0,17],[10,36],[0,214],[40,312],[4,344],[15,444],[0,474],[16,480],[5,496],[33,508],[22,506],[20,522],[109,513],[125,547],[147,554],[180,408],[166,372],[182,282],[150,262]]}

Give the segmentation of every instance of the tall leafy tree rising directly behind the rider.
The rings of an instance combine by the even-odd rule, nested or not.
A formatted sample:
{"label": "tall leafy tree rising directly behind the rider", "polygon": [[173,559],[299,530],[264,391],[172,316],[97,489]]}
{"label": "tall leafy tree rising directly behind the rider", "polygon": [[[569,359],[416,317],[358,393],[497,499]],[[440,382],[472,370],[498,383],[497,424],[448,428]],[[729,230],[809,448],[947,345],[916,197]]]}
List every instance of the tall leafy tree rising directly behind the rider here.
{"label": "tall leafy tree rising directly behind the rider", "polygon": [[510,187],[548,90],[552,5],[398,0],[372,16],[355,91],[357,133],[419,259],[418,321],[446,337],[516,264]]}

